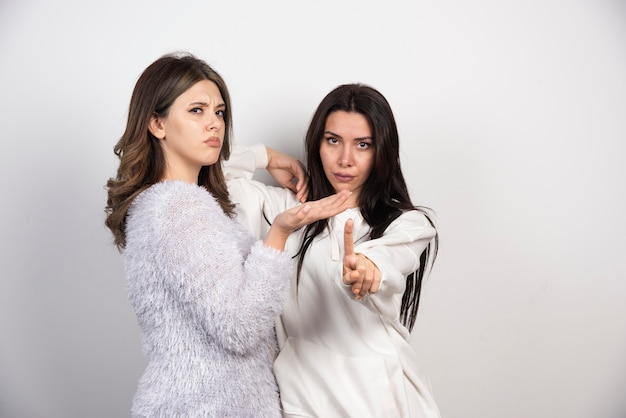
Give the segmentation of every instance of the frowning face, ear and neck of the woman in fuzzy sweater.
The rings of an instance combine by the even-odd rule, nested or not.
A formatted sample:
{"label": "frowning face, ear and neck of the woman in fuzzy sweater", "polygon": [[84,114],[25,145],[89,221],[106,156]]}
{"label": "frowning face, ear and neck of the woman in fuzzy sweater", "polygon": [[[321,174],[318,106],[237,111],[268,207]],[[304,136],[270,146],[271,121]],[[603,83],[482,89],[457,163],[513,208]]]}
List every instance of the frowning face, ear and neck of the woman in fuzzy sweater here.
{"label": "frowning face, ear and neck of the woman in fuzzy sweater", "polygon": [[150,131],[160,139],[167,168],[164,178],[197,183],[202,166],[218,161],[224,142],[226,105],[217,85],[198,81],[178,96]]}

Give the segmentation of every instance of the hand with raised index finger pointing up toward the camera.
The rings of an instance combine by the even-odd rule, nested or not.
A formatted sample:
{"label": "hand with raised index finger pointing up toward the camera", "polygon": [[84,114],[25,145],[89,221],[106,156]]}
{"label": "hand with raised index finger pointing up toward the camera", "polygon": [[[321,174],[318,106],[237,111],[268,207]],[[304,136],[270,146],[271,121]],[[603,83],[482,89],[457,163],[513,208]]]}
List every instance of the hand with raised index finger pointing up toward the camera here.
{"label": "hand with raised index finger pointing up toward the camera", "polygon": [[369,293],[376,293],[380,287],[380,270],[363,254],[354,253],[352,230],[354,221],[348,219],[343,230],[343,283],[352,285],[352,293],[357,300]]}

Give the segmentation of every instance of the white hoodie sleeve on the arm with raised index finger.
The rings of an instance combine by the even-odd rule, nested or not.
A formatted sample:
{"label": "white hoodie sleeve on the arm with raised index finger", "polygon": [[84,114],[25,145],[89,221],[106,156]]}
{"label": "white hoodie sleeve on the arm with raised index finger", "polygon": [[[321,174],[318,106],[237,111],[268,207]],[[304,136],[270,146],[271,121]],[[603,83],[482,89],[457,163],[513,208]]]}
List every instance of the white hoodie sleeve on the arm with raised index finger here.
{"label": "white hoodie sleeve on the arm with raised index finger", "polygon": [[355,253],[365,255],[381,272],[380,288],[368,296],[366,306],[384,317],[398,317],[406,277],[419,268],[420,256],[435,234],[426,216],[411,210],[392,222],[380,238],[355,246]]}

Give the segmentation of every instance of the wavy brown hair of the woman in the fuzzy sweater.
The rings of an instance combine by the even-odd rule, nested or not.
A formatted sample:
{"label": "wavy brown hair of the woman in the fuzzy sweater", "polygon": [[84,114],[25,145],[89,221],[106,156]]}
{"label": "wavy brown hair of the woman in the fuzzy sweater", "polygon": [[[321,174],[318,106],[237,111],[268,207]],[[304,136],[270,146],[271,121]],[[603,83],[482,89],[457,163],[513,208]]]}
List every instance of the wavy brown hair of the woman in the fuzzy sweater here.
{"label": "wavy brown hair of the woman in the fuzzy sweater", "polygon": [[124,134],[113,151],[120,159],[115,178],[107,181],[105,225],[111,230],[114,243],[121,251],[126,247],[126,214],[135,197],[161,181],[165,171],[165,156],[160,141],[150,133],[150,120],[166,117],[172,103],[191,86],[202,80],[215,83],[224,99],[224,144],[218,161],[204,166],[198,175],[198,185],[204,186],[229,216],[234,214],[222,171],[222,160],[230,156],[232,115],[230,95],[222,77],[207,63],[191,54],[164,55],[150,64],[141,74],[128,108]]}

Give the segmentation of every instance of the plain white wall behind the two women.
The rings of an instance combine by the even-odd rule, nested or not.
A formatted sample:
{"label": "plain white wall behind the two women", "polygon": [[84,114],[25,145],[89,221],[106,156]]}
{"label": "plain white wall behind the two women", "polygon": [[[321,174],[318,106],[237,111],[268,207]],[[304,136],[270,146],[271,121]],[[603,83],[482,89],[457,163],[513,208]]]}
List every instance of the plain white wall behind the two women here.
{"label": "plain white wall behind the two women", "polygon": [[241,143],[301,155],[331,88],[387,96],[440,224],[414,345],[444,418],[626,417],[625,41],[620,0],[2,0],[0,416],[128,416],[103,186],[138,75],[187,50]]}

